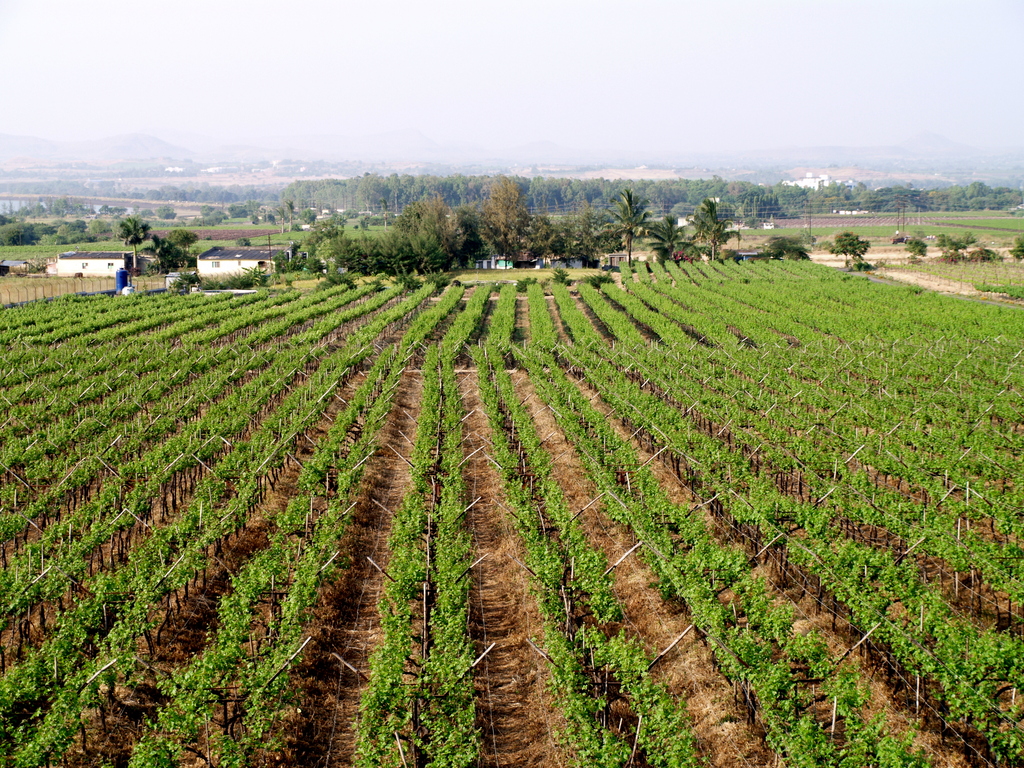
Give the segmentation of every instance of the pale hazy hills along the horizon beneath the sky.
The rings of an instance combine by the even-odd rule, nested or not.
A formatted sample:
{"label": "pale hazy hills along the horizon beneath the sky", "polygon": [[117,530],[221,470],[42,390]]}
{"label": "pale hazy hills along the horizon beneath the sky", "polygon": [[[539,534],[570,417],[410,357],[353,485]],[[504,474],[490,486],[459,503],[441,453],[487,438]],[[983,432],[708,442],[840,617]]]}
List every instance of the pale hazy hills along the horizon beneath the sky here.
{"label": "pale hazy hills along the horizon beneath the sky", "polygon": [[[158,133],[165,137],[158,137]],[[193,161],[211,166],[239,166],[276,164],[283,160],[294,161],[297,168],[317,163],[335,166],[311,171],[313,173],[338,173],[337,165],[341,164],[353,166],[341,171],[345,173],[515,173],[578,177],[608,174],[615,178],[662,178],[668,173],[686,177],[720,175],[762,183],[788,178],[788,170],[793,168],[825,169],[820,172],[829,174],[831,169],[855,168],[859,170],[851,177],[867,179],[871,177],[870,172],[881,172],[893,183],[929,180],[952,183],[984,178],[1017,184],[1024,177],[1024,147],[985,151],[932,132],[923,132],[891,145],[784,146],[729,152],[682,146],[660,151],[637,146],[594,151],[567,147],[553,141],[498,148],[471,142],[438,142],[414,129],[367,135],[239,135],[230,141],[159,129],[89,141],[54,141],[0,134],[0,163],[16,166],[30,175],[33,171],[49,174],[55,164],[76,162],[99,165],[151,161],[154,165],[178,166]],[[102,174],[99,169],[80,169],[79,172],[93,176]],[[882,176],[878,178],[881,179]]]}

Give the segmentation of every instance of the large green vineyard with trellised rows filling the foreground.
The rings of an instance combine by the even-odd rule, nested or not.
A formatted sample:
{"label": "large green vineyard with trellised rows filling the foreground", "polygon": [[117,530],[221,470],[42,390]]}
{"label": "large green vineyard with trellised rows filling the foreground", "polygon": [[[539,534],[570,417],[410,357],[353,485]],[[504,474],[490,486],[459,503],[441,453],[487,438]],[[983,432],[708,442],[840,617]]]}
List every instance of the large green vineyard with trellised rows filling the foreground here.
{"label": "large green vineyard with trellised rows filling the foreground", "polygon": [[1024,311],[621,278],[0,311],[0,767],[1024,766]]}

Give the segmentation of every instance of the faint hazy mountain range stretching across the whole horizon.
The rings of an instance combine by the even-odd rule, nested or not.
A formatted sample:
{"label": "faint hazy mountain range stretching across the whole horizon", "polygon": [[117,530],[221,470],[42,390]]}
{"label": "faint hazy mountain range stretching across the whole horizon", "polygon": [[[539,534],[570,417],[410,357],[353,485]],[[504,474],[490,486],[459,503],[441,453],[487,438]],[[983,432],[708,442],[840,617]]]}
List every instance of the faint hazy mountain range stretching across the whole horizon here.
{"label": "faint hazy mountain range stretching across the whole horizon", "polygon": [[292,159],[300,162],[364,162],[379,164],[492,167],[497,170],[532,166],[784,168],[792,166],[862,166],[933,170],[936,166],[991,169],[993,164],[1013,173],[1024,167],[1024,147],[984,151],[956,143],[935,133],[921,133],[906,141],[883,146],[788,146],[734,152],[641,152],[637,150],[583,151],[551,141],[502,148],[470,143],[440,143],[419,131],[374,135],[341,134],[264,136],[233,143],[200,134],[160,131],[127,133],[87,141],[56,141],[35,136],[0,134],[0,163],[110,164],[181,162],[245,164]]}

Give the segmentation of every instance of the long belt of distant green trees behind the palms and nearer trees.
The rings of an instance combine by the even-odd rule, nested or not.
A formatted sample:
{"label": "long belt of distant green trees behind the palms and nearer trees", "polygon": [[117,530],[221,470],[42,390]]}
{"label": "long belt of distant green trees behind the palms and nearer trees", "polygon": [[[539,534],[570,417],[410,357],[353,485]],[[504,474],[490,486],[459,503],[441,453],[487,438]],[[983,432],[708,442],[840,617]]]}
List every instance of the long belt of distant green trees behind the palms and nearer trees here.
{"label": "long belt of distant green trees behind the palms and nearer trees", "polygon": [[[526,207],[532,213],[564,214],[585,204],[609,208],[609,200],[626,188],[639,199],[649,201],[652,211],[676,216],[692,214],[707,199],[718,201],[723,213],[737,220],[763,220],[772,217],[801,217],[811,213],[829,213],[835,209],[868,210],[876,213],[957,210],[1006,210],[1021,204],[1019,189],[989,187],[976,181],[966,186],[941,189],[913,189],[891,186],[869,189],[864,184],[847,186],[831,183],[820,189],[806,189],[777,183],[762,186],[748,181],[711,179],[635,180],[567,178],[512,178],[520,188]],[[293,200],[300,208],[331,210],[382,211],[382,203],[391,212],[399,212],[419,200],[440,197],[453,208],[482,205],[495,179],[489,176],[411,176],[365,174],[349,179],[296,181],[282,193],[283,200]]]}

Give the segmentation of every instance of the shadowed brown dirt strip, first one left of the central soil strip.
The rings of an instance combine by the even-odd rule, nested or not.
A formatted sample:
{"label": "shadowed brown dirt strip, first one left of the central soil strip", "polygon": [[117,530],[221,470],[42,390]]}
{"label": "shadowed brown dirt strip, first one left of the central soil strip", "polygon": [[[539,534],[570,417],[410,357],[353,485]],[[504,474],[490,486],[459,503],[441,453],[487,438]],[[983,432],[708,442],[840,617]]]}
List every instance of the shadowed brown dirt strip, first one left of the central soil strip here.
{"label": "shadowed brown dirt strip, first one left of the central soil strip", "polygon": [[370,653],[380,641],[377,604],[384,577],[368,557],[387,567],[392,513],[412,486],[406,460],[416,432],[421,389],[420,374],[407,372],[384,426],[381,449],[367,467],[340,547],[349,557],[349,567],[322,590],[308,628],[313,650],[292,674],[301,714],[284,727],[286,746],[279,765],[329,768],[353,762],[365,676]]}

